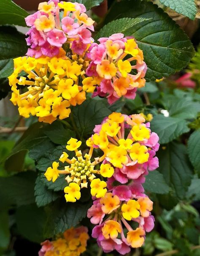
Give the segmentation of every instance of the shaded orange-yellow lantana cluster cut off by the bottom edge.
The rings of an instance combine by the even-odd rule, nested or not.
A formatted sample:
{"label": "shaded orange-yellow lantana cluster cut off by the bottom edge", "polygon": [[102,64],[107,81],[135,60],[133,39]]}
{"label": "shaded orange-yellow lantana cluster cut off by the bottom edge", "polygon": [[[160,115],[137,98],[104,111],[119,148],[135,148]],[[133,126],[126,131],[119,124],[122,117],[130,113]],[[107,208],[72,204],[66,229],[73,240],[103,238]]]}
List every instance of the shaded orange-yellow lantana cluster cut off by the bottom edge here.
{"label": "shaded orange-yellow lantana cluster cut off by the bottom edge", "polygon": [[54,241],[41,243],[39,256],[79,256],[86,250],[89,239],[88,229],[84,226],[70,228]]}

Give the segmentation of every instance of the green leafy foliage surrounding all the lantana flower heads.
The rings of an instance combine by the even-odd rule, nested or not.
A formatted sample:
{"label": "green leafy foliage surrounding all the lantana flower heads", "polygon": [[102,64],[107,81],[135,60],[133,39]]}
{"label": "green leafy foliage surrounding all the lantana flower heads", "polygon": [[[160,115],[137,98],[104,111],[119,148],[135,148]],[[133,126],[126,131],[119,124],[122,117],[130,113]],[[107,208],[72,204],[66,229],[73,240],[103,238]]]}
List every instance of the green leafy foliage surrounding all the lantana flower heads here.
{"label": "green leafy foliage surrounding all the lantana flower heads", "polygon": [[[102,0],[78,2],[90,9]],[[24,120],[17,115],[1,116],[0,255],[35,256],[39,243],[79,223],[88,226],[91,232],[92,226],[86,218],[91,206],[88,191],[84,190],[80,202],[66,204],[62,194],[65,180],[47,182],[43,173],[63,150],[66,151],[65,144],[71,136],[86,140],[95,124],[100,124],[112,111],[151,113],[151,129],[157,132],[161,144],[157,154],[159,168],[149,173],[144,184],[146,193],[154,201],[155,229],[147,235],[143,248],[132,250],[130,255],[200,255],[199,249],[193,250],[200,244],[200,48],[196,48],[200,43],[200,26],[195,19],[197,7],[194,0],[153,2],[162,8],[152,1],[122,0],[108,1],[108,13],[102,19],[92,13],[99,30],[95,39],[119,32],[133,35],[144,52],[149,68],[148,83],[138,90],[135,100],[121,99],[109,106],[104,99],[88,96],[86,102],[73,108],[70,118],[51,125],[38,123],[33,117]],[[178,13],[174,17],[182,27],[181,19],[194,20],[190,23],[192,42],[173,21],[171,17],[175,13],[168,7]],[[0,99],[7,94],[9,97],[6,77],[12,73],[12,59],[27,50],[25,36],[13,26],[25,26],[27,15],[11,0],[1,0]],[[196,56],[192,59],[195,50]],[[185,67],[192,72],[195,88],[176,83],[178,77],[188,72],[183,70]],[[168,78],[155,82],[162,77]],[[22,131],[16,132],[19,127],[23,135]],[[30,248],[28,252],[26,246]],[[84,255],[100,253],[91,239]]]}

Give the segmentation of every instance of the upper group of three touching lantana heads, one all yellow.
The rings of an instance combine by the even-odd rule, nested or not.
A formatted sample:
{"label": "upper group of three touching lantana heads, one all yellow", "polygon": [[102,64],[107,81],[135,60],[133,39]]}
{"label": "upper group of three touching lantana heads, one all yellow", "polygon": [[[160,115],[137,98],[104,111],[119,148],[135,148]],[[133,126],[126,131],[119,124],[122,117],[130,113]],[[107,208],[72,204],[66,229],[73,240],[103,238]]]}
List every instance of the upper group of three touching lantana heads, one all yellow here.
{"label": "upper group of three touching lantana heads, one all yellow", "polygon": [[94,21],[80,3],[49,0],[40,3],[26,24],[28,57],[14,59],[9,77],[11,102],[19,114],[52,123],[86,100],[86,93],[134,99],[145,85],[146,63],[135,39],[113,34],[94,43]]}

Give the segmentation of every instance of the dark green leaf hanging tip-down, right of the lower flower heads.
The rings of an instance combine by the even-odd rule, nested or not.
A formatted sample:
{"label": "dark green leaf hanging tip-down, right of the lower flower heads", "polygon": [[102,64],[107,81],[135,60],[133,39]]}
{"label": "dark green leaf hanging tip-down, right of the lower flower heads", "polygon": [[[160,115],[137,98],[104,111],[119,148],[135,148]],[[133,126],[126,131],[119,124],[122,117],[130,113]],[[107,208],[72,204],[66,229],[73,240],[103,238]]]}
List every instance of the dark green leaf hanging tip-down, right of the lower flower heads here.
{"label": "dark green leaf hanging tip-down, right of the lower flower heads", "polygon": [[186,147],[179,143],[169,143],[165,149],[157,152],[158,171],[163,174],[165,182],[183,199],[190,185],[192,168],[186,153]]}

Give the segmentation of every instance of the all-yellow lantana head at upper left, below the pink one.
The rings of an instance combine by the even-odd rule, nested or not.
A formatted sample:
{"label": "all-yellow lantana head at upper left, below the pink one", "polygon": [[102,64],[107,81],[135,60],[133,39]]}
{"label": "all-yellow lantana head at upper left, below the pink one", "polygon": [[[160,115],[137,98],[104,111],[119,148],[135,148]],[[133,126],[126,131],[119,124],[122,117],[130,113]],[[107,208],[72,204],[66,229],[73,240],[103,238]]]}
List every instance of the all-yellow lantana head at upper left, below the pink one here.
{"label": "all-yellow lantana head at upper left, below the pink one", "polygon": [[14,59],[14,66],[14,73],[8,77],[13,91],[11,102],[25,118],[31,114],[51,124],[57,118],[67,118],[69,107],[86,99],[78,85],[82,65],[66,57],[64,50],[54,58],[19,57]]}

